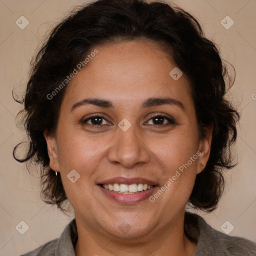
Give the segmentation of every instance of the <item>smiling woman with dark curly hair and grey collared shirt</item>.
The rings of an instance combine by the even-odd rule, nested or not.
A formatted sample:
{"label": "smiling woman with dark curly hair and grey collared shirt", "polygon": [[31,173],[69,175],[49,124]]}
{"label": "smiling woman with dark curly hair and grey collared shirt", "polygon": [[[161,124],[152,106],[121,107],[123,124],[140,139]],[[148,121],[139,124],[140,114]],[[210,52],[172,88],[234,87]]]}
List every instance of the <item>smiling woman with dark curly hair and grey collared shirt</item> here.
{"label": "smiling woman with dark curly hair and grey collared shirt", "polygon": [[[185,211],[212,211],[234,166],[237,111],[219,52],[180,8],[98,0],[51,32],[24,98],[24,159],[75,218],[23,255],[256,255]],[[15,148],[13,151],[15,157]]]}

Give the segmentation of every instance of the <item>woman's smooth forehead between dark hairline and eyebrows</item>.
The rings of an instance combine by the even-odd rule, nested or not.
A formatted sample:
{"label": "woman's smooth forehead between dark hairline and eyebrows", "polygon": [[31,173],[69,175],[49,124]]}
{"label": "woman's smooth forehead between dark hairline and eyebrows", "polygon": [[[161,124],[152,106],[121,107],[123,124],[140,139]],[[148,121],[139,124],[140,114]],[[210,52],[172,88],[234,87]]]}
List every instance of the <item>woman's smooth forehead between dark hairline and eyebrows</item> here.
{"label": "woman's smooth forehead between dark hairline and eyebrows", "polygon": [[176,76],[171,70],[177,73],[177,67],[159,43],[150,40],[106,43],[91,51],[95,48],[98,53],[69,82],[64,97],[67,104],[84,97],[108,98],[126,104],[156,96],[171,96],[185,101],[184,105],[191,103],[185,75],[173,79]]}

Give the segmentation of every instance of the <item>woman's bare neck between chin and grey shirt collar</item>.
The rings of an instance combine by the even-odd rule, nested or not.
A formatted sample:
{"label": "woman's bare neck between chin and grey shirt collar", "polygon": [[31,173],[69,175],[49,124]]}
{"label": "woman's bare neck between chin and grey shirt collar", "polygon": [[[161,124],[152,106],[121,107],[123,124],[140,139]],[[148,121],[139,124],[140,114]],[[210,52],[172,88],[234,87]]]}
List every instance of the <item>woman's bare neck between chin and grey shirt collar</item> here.
{"label": "woman's bare neck between chin and grey shirt collar", "polygon": [[78,240],[75,244],[75,256],[104,255],[119,256],[147,256],[180,255],[192,256],[196,249],[196,243],[190,241],[184,233],[184,214],[178,219],[153,230],[151,233],[134,238],[120,238],[110,234],[91,229],[90,225],[76,218]]}

